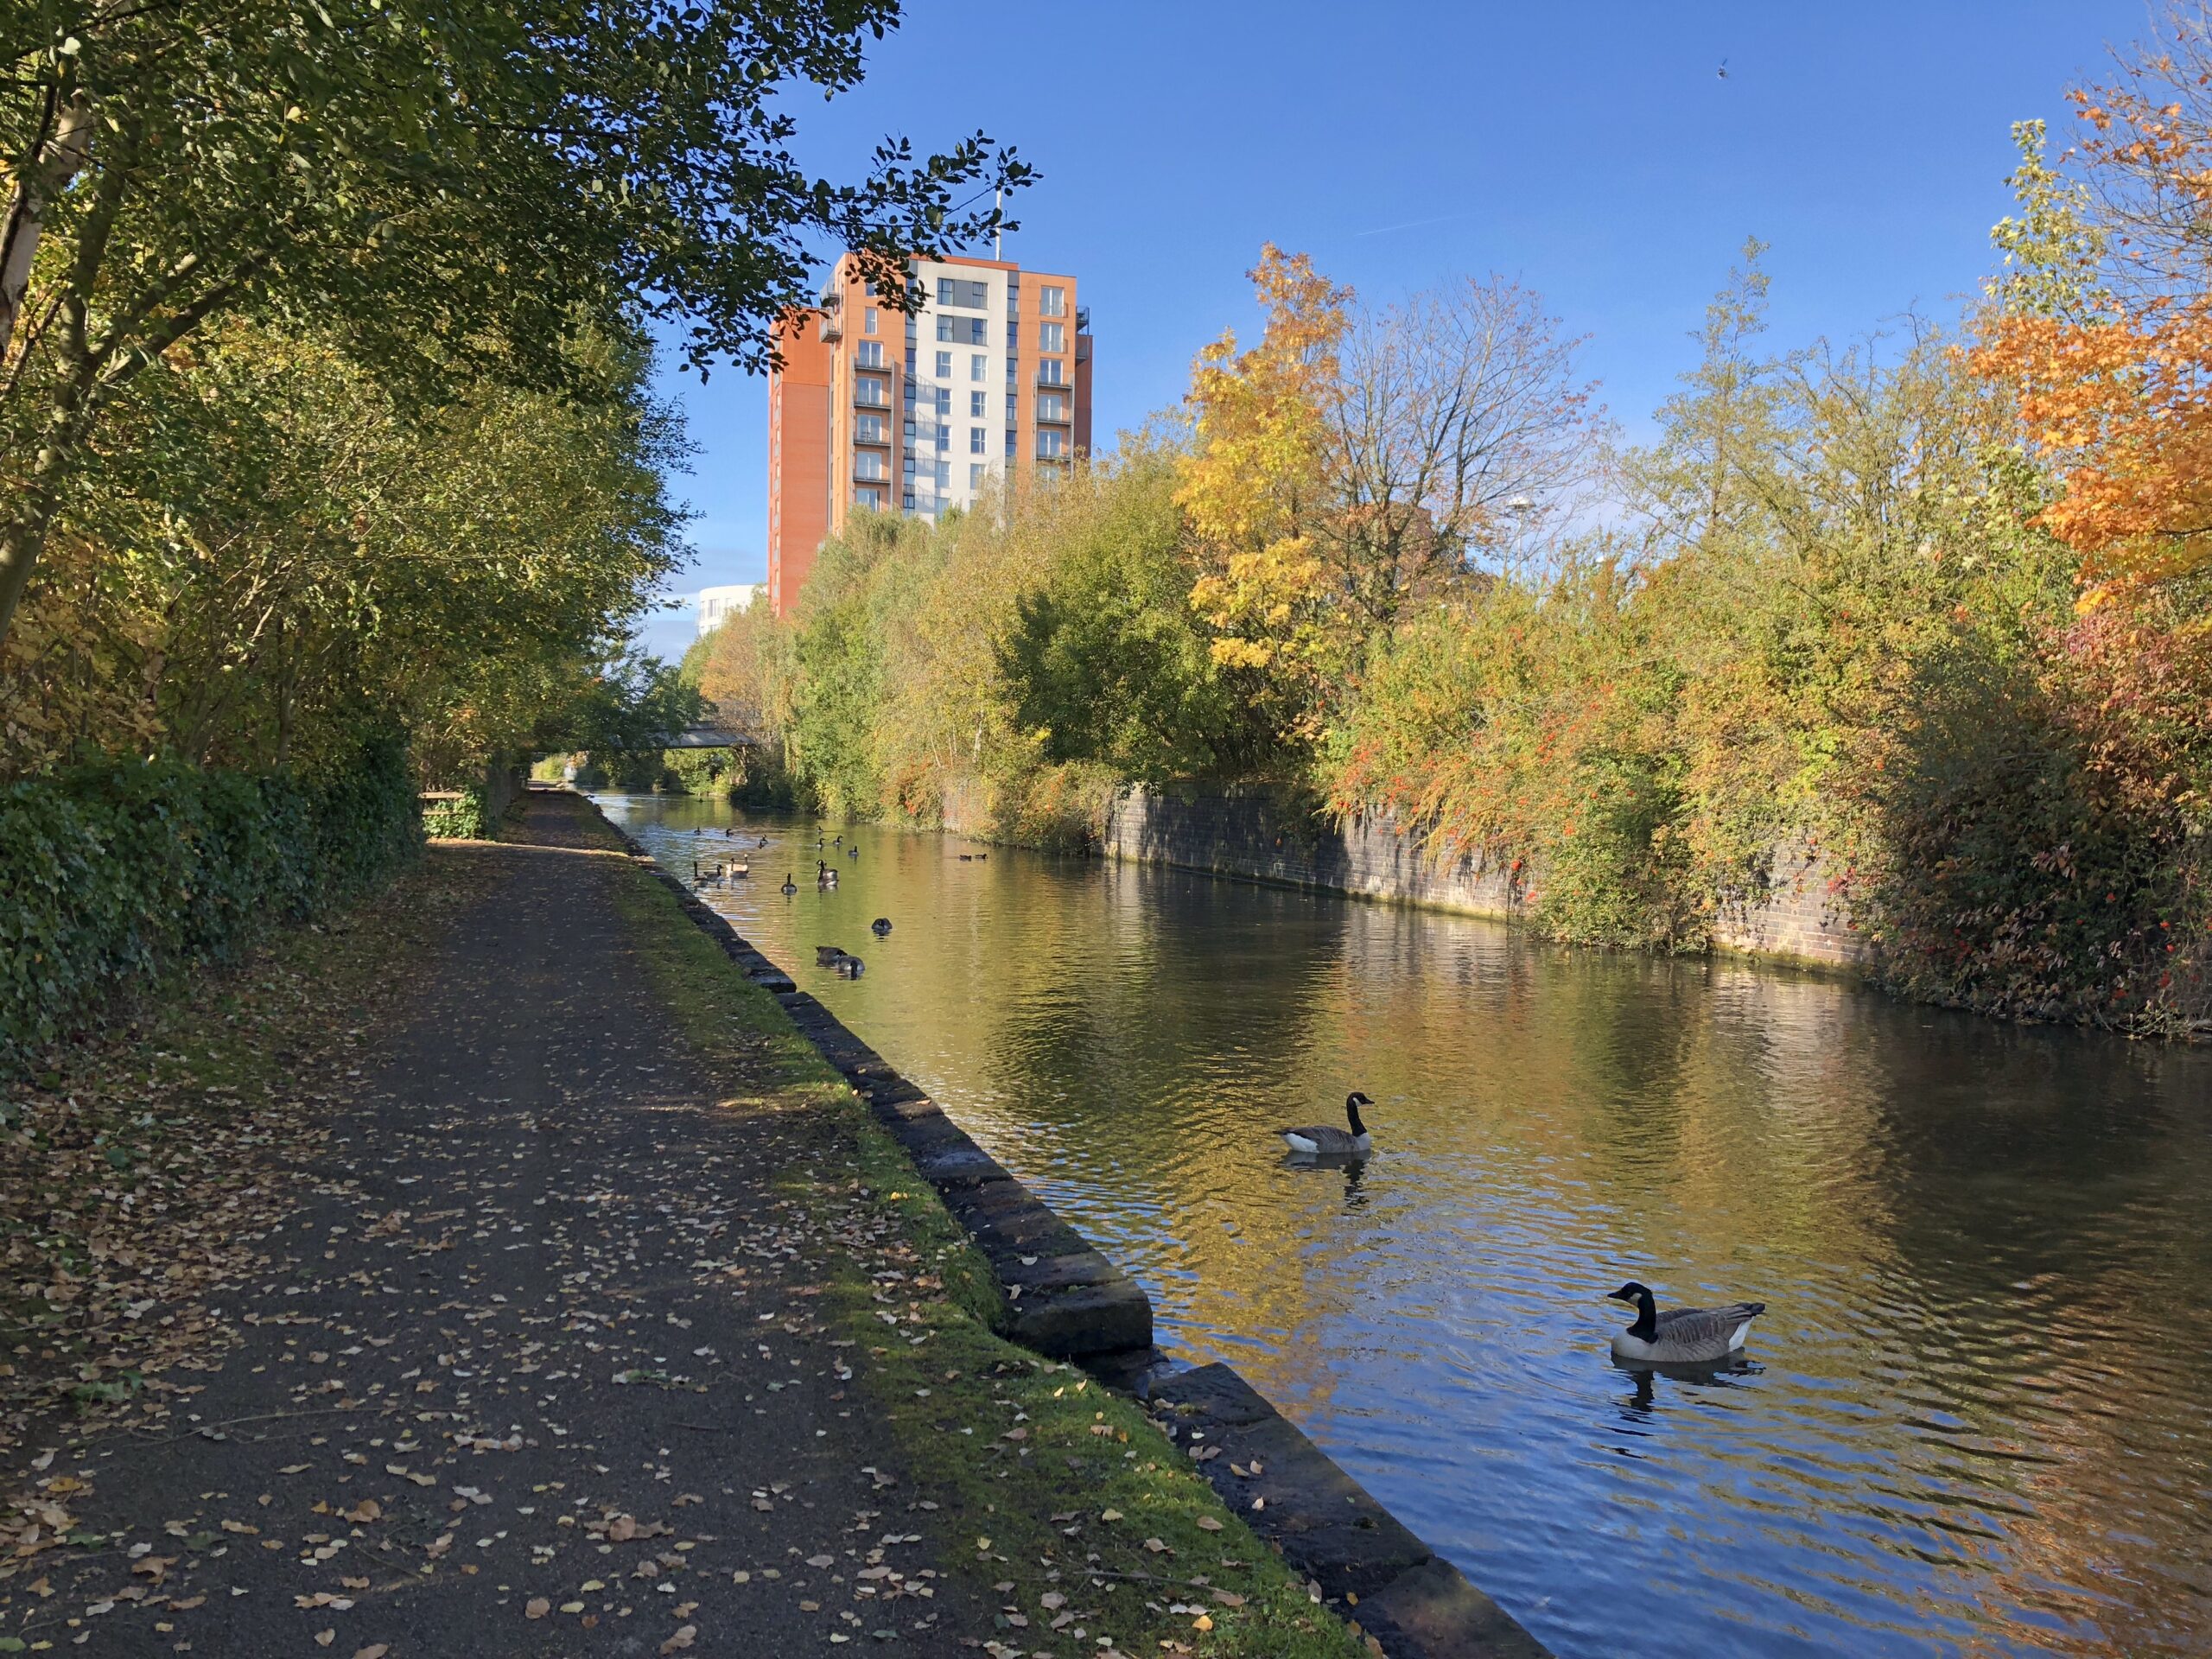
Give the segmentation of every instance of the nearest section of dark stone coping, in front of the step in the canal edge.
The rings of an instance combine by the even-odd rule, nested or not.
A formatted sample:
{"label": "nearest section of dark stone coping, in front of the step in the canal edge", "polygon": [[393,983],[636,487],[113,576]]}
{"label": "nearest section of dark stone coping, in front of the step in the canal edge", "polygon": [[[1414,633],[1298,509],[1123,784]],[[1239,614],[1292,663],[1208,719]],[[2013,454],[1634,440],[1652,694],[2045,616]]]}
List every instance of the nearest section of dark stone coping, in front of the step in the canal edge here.
{"label": "nearest section of dark stone coping, in front of the step in the canal edge", "polygon": [[[1170,1436],[1254,1533],[1356,1617],[1394,1659],[1544,1659],[1546,1648],[1228,1365],[1159,1378]],[[1259,1464],[1261,1473],[1237,1473]],[[1256,1506],[1254,1506],[1256,1504]]]}

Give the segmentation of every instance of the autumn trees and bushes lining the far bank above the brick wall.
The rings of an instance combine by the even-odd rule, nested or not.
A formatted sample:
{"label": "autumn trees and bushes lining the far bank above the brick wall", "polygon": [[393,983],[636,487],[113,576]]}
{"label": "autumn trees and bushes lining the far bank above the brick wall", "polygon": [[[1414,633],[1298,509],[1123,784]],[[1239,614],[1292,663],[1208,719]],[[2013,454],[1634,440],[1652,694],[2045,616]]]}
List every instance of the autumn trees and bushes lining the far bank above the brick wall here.
{"label": "autumn trees and bushes lining the far bank above the brick wall", "polygon": [[699,653],[745,790],[1044,845],[1265,783],[1515,872],[1562,940],[1699,951],[1812,852],[1878,978],[2212,1029],[2212,60],[2022,126],[1951,323],[1774,345],[1756,243],[1648,445],[1542,301],[1252,272],[1256,341],[1110,456],[860,515]]}

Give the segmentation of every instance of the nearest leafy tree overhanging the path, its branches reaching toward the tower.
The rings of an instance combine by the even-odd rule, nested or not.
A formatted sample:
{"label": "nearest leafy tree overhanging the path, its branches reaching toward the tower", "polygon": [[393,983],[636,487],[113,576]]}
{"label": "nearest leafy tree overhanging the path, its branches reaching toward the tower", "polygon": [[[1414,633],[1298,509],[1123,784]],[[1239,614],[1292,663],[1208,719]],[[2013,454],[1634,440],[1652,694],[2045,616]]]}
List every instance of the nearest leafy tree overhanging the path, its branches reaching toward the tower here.
{"label": "nearest leafy tree overhanging the path, its branches reaching toward the tower", "polygon": [[[31,0],[0,62],[0,639],[82,447],[164,352],[250,312],[394,385],[573,387],[580,316],[761,363],[810,239],[905,305],[911,252],[987,234],[1026,168],[975,135],[812,179],[774,106],[860,77],[898,0]],[[969,192],[980,186],[978,192]],[[18,272],[24,272],[18,290]]]}

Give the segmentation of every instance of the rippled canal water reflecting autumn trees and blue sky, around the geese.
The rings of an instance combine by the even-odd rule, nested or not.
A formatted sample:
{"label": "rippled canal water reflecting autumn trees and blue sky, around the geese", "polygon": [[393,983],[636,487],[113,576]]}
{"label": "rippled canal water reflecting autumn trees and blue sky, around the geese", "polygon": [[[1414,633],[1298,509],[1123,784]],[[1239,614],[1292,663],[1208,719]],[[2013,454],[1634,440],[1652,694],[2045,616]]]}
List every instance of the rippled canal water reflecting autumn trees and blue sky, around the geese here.
{"label": "rippled canal water reflecting autumn trees and blue sky, around the geese", "polygon": [[[1559,1655],[2212,1652],[2212,1053],[604,805],[768,836],[708,900]],[[1747,1367],[1615,1367],[1624,1279],[1765,1301]]]}

